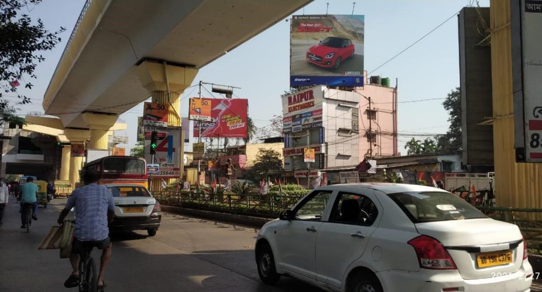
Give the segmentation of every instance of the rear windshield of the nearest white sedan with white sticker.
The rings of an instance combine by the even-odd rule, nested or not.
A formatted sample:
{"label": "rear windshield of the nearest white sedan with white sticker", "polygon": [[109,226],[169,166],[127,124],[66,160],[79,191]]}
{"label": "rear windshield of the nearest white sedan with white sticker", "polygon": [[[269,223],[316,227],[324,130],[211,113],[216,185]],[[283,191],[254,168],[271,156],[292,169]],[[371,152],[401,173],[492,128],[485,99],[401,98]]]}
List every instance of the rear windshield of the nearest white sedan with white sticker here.
{"label": "rear windshield of the nearest white sedan with white sticker", "polygon": [[389,194],[412,222],[433,222],[487,218],[454,194],[423,191]]}

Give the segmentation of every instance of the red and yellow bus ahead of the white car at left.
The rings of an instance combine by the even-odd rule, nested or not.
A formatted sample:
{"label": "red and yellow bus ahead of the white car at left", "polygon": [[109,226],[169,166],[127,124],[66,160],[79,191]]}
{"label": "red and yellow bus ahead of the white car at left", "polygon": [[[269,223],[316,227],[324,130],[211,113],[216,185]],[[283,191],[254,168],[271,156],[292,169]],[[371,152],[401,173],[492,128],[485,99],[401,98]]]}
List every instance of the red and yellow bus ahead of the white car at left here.
{"label": "red and yellow bus ahead of the white car at left", "polygon": [[95,170],[100,176],[99,183],[133,183],[147,188],[146,161],[134,156],[106,156],[86,163],[85,170]]}

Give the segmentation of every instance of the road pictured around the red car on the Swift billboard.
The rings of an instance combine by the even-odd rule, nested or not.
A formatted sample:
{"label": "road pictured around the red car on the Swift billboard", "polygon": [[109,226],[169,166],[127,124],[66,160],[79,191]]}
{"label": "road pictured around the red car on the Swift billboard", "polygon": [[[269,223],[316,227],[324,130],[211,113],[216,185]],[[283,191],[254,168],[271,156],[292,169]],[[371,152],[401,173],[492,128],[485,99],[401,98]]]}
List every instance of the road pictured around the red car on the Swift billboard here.
{"label": "road pictured around the red car on the Swift billboard", "polygon": [[324,76],[343,76],[343,71],[361,71],[363,74],[363,44],[353,42],[354,44],[354,56],[346,59],[342,65],[337,69],[325,69],[320,68],[317,65],[307,62],[306,54],[307,50],[318,42],[305,41],[300,39],[292,40],[292,56],[291,56],[291,68],[292,75],[324,75]]}

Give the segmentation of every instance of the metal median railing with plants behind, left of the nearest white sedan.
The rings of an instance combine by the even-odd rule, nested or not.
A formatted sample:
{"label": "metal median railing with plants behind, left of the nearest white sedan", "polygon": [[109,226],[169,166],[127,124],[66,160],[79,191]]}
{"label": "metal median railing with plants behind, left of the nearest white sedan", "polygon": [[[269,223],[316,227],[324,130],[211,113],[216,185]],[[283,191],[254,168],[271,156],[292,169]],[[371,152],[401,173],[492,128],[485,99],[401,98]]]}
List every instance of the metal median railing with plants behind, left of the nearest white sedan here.
{"label": "metal median railing with plants behind, left of the nearest white sedan", "polygon": [[176,207],[197,208],[226,213],[277,217],[281,211],[291,209],[302,195],[236,195],[195,193],[193,191],[155,191],[153,196],[160,204]]}

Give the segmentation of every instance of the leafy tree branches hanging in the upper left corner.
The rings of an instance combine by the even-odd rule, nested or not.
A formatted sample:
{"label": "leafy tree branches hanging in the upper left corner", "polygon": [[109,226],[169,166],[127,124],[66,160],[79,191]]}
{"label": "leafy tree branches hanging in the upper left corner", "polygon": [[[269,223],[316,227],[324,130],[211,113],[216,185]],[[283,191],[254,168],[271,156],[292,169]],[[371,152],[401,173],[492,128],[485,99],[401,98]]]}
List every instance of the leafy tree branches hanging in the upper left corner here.
{"label": "leafy tree branches hanging in the upper left corner", "polygon": [[[0,1],[0,98],[3,97],[3,92],[17,94],[17,86],[23,82],[25,88],[32,89],[33,84],[24,81],[24,76],[37,78],[34,74],[36,65],[45,60],[39,53],[53,49],[61,41],[58,35],[66,30],[61,27],[50,32],[45,29],[41,19],[38,18],[34,25],[28,15],[19,15],[21,9],[28,9],[29,5],[41,2],[42,0]],[[17,94],[17,97],[22,99],[23,104],[30,102],[24,95]],[[7,108],[8,101],[0,99],[0,109]]]}

